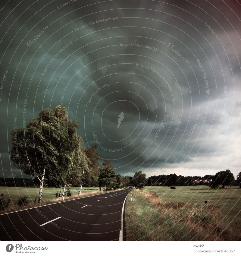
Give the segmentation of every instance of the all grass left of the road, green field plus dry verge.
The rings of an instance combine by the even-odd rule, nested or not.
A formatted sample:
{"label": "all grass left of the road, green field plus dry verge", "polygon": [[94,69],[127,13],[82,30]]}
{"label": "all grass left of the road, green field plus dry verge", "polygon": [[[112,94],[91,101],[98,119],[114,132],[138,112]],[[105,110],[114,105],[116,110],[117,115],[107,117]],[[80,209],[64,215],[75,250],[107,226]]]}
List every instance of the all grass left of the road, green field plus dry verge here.
{"label": "all grass left of the road, green field plus dry verge", "polygon": [[[5,188],[5,189],[4,189]],[[5,210],[0,210],[0,214],[10,213],[18,210],[29,209],[33,207],[39,207],[47,204],[54,204],[58,202],[63,202],[62,198],[55,198],[58,188],[44,188],[43,197],[41,203],[34,202],[36,196],[38,201],[38,188],[34,187],[0,187],[0,194],[4,194],[4,200],[7,201],[11,197],[11,202],[8,205],[8,208]],[[5,193],[4,193],[5,192]],[[71,188],[72,196],[64,197],[64,201],[72,200],[77,198],[82,198],[86,196],[102,194],[99,191],[98,187],[93,188],[82,188],[81,195],[78,195],[78,188]],[[106,192],[106,191],[105,191]],[[16,204],[19,196],[27,196],[27,199],[30,201],[26,206],[18,206]]]}

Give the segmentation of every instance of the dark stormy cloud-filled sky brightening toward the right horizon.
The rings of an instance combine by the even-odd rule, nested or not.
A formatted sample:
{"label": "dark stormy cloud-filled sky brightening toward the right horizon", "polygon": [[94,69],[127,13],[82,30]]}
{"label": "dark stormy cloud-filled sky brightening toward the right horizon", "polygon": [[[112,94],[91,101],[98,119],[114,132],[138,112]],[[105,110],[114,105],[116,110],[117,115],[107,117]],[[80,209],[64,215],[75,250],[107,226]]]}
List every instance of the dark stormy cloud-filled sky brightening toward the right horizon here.
{"label": "dark stormy cloud-filled sky brightening toward the right horizon", "polygon": [[239,1],[66,1],[1,1],[0,176],[14,115],[59,104],[117,173],[236,176]]}

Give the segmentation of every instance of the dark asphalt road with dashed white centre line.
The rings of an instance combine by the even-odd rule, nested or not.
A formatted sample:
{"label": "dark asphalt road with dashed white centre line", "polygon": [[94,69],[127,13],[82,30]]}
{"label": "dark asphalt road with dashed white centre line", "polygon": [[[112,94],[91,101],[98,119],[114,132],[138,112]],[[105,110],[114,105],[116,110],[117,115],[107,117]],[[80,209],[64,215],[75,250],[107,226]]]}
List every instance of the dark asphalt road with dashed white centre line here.
{"label": "dark asphalt road with dashed white centre line", "polygon": [[128,192],[119,190],[2,214],[0,240],[119,241]]}

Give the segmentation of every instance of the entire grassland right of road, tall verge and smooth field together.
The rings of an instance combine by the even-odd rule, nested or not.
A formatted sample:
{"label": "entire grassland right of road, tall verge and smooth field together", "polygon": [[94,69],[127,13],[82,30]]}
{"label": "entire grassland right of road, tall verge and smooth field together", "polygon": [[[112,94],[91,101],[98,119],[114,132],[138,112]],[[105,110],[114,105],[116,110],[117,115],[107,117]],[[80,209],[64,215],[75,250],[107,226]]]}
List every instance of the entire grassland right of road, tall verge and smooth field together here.
{"label": "entire grassland right of road, tall verge and smooth field together", "polygon": [[[240,241],[241,189],[145,187],[125,205],[127,241]],[[204,204],[208,201],[208,204]]]}

